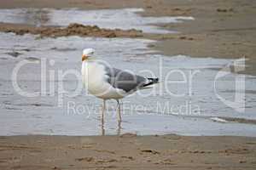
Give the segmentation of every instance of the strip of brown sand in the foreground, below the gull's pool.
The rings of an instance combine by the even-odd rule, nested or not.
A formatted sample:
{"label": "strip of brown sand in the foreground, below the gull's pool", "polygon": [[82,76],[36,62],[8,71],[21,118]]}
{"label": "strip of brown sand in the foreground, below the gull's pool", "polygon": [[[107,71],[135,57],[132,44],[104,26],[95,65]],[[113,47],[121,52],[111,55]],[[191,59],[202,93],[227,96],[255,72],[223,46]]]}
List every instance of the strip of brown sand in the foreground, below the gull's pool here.
{"label": "strip of brown sand in the foreground, below the gull's pool", "polygon": [[246,137],[1,137],[1,169],[255,169]]}

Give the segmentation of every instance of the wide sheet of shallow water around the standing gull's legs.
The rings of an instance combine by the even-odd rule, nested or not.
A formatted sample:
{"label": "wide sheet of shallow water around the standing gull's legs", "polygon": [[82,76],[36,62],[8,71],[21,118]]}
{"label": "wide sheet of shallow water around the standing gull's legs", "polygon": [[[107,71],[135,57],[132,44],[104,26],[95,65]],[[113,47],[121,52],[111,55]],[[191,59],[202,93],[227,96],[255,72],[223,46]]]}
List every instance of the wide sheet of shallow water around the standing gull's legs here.
{"label": "wide sheet of shallow water around the standing gull's legs", "polygon": [[[97,37],[38,39],[33,35],[0,33],[0,135],[129,132],[256,136],[254,124],[216,122],[219,119],[212,118],[230,116],[255,120],[256,77],[228,72],[227,68],[234,65],[231,59],[160,55],[148,48],[152,42]],[[120,125],[116,119],[115,101],[108,101],[102,127],[102,101],[79,88],[83,48],[96,48],[96,59],[103,59],[114,67],[160,77],[156,88],[137,92],[123,100],[124,122]],[[17,72],[18,88],[15,88],[16,79],[12,75],[22,63],[24,65]],[[44,63],[46,68],[42,71]],[[226,71],[219,71],[223,68]],[[63,76],[65,73],[69,74]],[[245,96],[241,95],[242,83],[238,83],[239,89],[235,86],[236,81],[242,82],[243,78],[246,80]],[[35,96],[25,97],[24,92]],[[227,105],[236,95],[242,100],[235,106],[244,103],[245,111]]]}

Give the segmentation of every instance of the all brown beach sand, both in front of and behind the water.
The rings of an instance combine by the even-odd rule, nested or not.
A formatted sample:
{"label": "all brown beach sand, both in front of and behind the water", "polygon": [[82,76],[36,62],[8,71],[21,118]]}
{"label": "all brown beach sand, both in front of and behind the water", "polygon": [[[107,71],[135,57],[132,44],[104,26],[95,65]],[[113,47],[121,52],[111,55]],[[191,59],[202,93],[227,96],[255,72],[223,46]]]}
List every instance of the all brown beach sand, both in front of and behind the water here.
{"label": "all brown beach sand, both in front of and behind the water", "polygon": [[[193,16],[195,20],[160,25],[178,34],[73,27],[61,36],[132,37],[158,40],[162,54],[237,59],[245,56],[256,75],[256,2],[253,0],[1,0],[0,8],[145,8],[143,16]],[[76,26],[75,26],[76,27]],[[79,26],[78,26],[79,27]],[[0,31],[51,37],[60,28],[0,24]],[[21,33],[20,33],[21,32]],[[255,123],[255,122],[253,122]],[[256,133],[256,132],[255,132]],[[235,136],[2,136],[0,169],[255,169],[256,138]]]}

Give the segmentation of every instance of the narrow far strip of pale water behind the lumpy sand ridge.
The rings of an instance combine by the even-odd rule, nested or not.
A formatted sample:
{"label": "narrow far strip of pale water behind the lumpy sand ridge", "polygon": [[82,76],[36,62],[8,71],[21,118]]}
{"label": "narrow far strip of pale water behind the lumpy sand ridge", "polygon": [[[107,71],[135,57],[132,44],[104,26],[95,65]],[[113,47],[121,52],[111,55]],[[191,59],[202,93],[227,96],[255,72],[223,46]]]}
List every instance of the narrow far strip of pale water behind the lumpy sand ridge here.
{"label": "narrow far strip of pale water behind the lumpy sand ridge", "polygon": [[148,33],[172,33],[155,23],[177,23],[194,20],[193,17],[142,17],[137,12],[143,8],[79,10],[77,8],[15,8],[0,9],[0,22],[29,24],[34,26],[68,26],[79,23],[101,28],[137,29]]}

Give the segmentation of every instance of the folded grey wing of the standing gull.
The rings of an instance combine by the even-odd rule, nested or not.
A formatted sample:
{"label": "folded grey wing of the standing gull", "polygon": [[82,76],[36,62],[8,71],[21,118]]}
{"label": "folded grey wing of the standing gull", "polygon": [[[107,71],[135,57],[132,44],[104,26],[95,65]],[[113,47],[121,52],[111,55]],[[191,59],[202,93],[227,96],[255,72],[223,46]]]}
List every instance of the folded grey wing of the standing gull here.
{"label": "folded grey wing of the standing gull", "polygon": [[116,68],[105,67],[106,74],[108,75],[108,83],[113,88],[120,88],[125,92],[135,91],[138,88],[143,88],[147,79],[145,77],[131,74],[128,71],[121,71]]}

